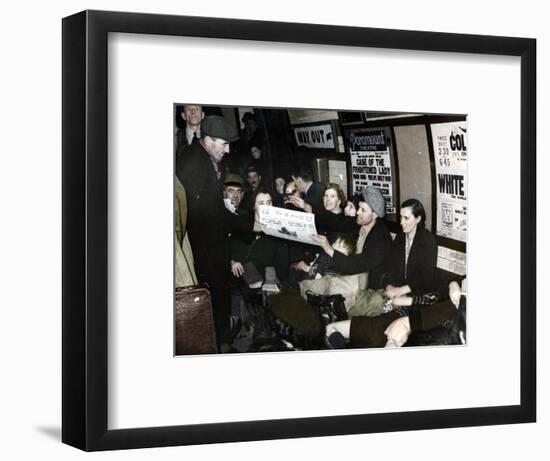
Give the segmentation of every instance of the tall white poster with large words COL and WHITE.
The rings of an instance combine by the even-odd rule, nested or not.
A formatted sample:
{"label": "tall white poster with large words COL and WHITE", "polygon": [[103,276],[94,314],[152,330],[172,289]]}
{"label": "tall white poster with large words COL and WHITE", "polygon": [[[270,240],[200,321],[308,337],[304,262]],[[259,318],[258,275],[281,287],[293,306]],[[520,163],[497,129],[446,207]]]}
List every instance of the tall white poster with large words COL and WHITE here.
{"label": "tall white poster with large words COL and WHITE", "polygon": [[466,242],[467,123],[436,123],[431,129],[437,181],[436,233]]}

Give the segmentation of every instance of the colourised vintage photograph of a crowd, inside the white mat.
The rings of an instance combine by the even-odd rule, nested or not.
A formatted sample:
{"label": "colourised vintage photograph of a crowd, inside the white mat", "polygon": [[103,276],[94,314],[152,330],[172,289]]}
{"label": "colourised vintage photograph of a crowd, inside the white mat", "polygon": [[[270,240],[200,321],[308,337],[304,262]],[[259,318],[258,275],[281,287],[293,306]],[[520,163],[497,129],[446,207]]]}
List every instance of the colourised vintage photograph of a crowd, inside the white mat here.
{"label": "colourised vintage photograph of a crowd, inside the white mat", "polygon": [[176,356],[466,344],[465,114],[173,124]]}

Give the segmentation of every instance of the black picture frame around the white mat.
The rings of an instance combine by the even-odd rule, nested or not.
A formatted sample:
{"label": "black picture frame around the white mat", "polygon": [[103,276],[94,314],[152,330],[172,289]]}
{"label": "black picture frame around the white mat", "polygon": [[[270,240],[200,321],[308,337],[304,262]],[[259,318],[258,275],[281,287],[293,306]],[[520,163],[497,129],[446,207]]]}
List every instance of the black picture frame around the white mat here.
{"label": "black picture frame around the white mat", "polygon": [[[87,451],[534,422],[536,41],[83,11],[63,19],[62,440]],[[110,32],[521,57],[519,405],[109,430],[107,35]]]}

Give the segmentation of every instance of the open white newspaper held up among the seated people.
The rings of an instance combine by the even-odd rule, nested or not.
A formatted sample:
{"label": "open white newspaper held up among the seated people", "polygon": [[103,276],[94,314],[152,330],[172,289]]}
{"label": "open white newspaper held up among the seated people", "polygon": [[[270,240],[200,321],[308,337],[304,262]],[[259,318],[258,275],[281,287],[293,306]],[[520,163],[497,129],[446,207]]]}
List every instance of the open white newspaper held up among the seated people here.
{"label": "open white newspaper held up among the seated people", "polygon": [[294,242],[318,245],[311,238],[317,234],[315,215],[302,211],[287,210],[268,205],[260,205],[260,223],[267,235]]}

